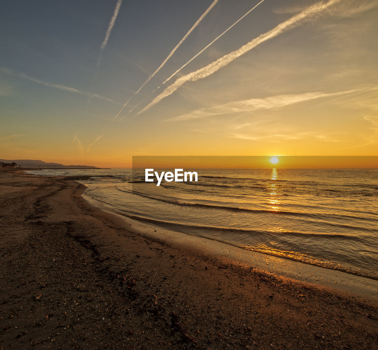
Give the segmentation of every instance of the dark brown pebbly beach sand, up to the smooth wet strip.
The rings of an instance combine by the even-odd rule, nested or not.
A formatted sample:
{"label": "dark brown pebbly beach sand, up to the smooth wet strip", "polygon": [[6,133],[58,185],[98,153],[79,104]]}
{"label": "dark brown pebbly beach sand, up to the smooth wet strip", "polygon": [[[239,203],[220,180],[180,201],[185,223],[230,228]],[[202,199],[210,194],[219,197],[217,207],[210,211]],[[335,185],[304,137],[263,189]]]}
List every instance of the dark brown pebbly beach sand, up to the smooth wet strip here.
{"label": "dark brown pebbly beach sand, up to the smooth wet strip", "polygon": [[141,235],[73,178],[0,184],[1,349],[377,348],[372,300]]}

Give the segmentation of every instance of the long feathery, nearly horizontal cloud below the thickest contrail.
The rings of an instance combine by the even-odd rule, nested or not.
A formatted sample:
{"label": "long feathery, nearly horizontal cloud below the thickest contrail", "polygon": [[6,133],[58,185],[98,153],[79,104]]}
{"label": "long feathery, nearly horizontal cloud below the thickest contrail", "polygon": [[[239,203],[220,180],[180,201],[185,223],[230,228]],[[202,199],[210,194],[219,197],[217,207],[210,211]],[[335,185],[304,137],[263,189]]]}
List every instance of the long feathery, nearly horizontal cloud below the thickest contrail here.
{"label": "long feathery, nearly horizontal cloud below the thickest contrail", "polygon": [[180,121],[190,120],[197,118],[210,117],[212,115],[229,114],[237,112],[251,112],[261,109],[273,109],[289,106],[295,103],[301,103],[305,101],[316,100],[318,98],[325,98],[331,96],[345,95],[347,93],[353,93],[361,91],[361,89],[347,90],[333,93],[324,92],[308,92],[292,95],[276,95],[266,98],[252,98],[250,100],[233,101],[212,108],[201,108],[194,110],[189,114],[180,115],[178,117],[166,119],[164,121]]}

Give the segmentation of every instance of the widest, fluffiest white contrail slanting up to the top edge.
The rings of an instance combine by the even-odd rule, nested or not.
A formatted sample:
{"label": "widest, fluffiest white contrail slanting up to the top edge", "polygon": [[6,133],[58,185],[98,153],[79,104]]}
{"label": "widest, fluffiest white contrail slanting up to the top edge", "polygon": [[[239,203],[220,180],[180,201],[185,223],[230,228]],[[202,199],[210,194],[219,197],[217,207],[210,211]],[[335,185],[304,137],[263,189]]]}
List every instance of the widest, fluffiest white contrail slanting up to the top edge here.
{"label": "widest, fluffiest white contrail slanting up to the top edge", "polygon": [[144,109],[140,110],[137,114],[141,114],[145,112],[147,109],[152,107],[154,104],[160,102],[164,97],[167,97],[174,93],[180,86],[182,86],[187,81],[196,81],[198,79],[206,78],[209,75],[212,75],[213,73],[217,72],[220,68],[225,67],[230,62],[234,61],[236,58],[242,56],[246,52],[252,50],[257,45],[272,39],[276,36],[278,36],[281,33],[284,33],[285,31],[288,31],[301,23],[305,22],[306,20],[311,20],[317,18],[317,16],[321,15],[321,13],[330,7],[331,5],[334,5],[341,0],[330,0],[327,3],[321,1],[318,2],[309,8],[305,9],[299,14],[296,14],[295,16],[291,17],[290,19],[286,20],[285,22],[280,23],[272,30],[261,34],[259,37],[253,39],[252,41],[248,42],[247,44],[243,45],[239,50],[232,51],[229,54],[226,54],[225,56],[217,59],[217,61],[212,62],[211,64],[200,68],[196,70],[195,72],[189,73],[187,75],[181,76],[178,78],[173,84],[171,84],[169,87],[167,87],[160,95],[156,96],[154,100],[150,104],[148,104]]}

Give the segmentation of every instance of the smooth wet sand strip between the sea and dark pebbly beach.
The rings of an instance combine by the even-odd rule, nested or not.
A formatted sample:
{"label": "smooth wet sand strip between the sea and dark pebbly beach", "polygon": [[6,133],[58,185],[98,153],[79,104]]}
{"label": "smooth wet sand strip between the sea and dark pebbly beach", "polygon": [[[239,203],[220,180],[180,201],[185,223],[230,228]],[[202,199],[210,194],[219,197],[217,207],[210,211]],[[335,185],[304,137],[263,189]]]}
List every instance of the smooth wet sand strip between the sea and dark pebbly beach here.
{"label": "smooth wet sand strip between the sea and dark pebbly beach", "polygon": [[[78,180],[79,182],[79,180]],[[310,283],[325,288],[335,288],[338,291],[353,293],[356,296],[367,297],[366,300],[378,302],[378,280],[350,274],[336,269],[325,268],[313,264],[307,264],[288,258],[264,254],[253,250],[241,249],[221,241],[201,238],[177,231],[164,229],[153,223],[133,219],[132,216],[114,212],[96,199],[85,193],[82,197],[96,208],[100,208],[110,215],[115,215],[126,225],[132,224],[133,229],[139,234],[161,240],[178,248],[191,250],[195,254],[204,254],[225,260],[226,263],[242,264],[245,268],[259,269],[260,272],[277,274],[283,278],[293,279],[296,282]]]}

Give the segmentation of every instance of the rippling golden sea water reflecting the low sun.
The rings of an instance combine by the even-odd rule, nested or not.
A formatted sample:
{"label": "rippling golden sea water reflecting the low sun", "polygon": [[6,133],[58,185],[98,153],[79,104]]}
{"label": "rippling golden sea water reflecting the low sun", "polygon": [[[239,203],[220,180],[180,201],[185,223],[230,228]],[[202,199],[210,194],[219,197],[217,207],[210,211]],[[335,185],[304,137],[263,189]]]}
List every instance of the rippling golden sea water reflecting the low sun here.
{"label": "rippling golden sea water reflecting the low sun", "polygon": [[85,194],[143,222],[378,280],[378,170],[208,169],[198,182],[144,182],[143,173],[86,175]]}

